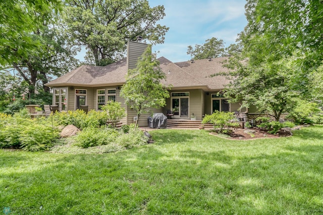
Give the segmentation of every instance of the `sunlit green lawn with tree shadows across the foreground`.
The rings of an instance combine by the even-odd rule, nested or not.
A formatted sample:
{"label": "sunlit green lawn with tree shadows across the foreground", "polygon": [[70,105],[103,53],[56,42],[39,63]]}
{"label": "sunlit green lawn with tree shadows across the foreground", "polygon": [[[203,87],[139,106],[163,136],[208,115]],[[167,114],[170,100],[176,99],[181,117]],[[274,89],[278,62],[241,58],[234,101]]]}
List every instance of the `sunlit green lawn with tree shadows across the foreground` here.
{"label": "sunlit green lawn with tree shadows across the foreground", "polygon": [[154,144],[107,154],[0,150],[0,213],[323,213],[323,126],[250,141],[151,134]]}

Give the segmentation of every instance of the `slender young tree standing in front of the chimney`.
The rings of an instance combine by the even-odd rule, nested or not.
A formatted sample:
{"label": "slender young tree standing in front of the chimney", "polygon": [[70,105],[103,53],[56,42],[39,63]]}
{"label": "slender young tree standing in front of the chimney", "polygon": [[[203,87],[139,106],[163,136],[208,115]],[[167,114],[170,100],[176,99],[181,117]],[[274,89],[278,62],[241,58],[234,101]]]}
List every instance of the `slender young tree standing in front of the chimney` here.
{"label": "slender young tree standing in front of the chimney", "polygon": [[151,55],[151,45],[148,45],[141,60],[138,61],[136,69],[128,71],[126,84],[120,92],[130,108],[137,113],[135,126],[143,113],[148,113],[152,108],[166,105],[165,98],[170,95],[164,85],[160,83],[165,79],[166,74],[161,71],[159,61]]}

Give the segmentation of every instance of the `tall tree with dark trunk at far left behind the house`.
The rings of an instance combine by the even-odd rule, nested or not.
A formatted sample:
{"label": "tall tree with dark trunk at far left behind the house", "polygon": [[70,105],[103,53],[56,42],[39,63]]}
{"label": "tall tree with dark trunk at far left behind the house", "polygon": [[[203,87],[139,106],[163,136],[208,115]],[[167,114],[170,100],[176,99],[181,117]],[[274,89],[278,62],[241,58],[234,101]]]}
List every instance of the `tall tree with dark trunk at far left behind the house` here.
{"label": "tall tree with dark trunk at far left behind the house", "polygon": [[[55,5],[55,3],[57,5]],[[34,94],[37,83],[49,92],[44,84],[52,76],[60,76],[76,66],[76,49],[67,43],[67,37],[60,28],[59,17],[55,13],[59,1],[15,0],[5,1],[0,7],[13,8],[17,15],[5,12],[7,20],[0,19],[0,69],[14,68],[29,85],[29,93]],[[7,9],[8,10],[8,9]],[[20,18],[26,18],[24,23]],[[18,27],[15,28],[14,25]],[[5,34],[5,33],[4,33]]]}

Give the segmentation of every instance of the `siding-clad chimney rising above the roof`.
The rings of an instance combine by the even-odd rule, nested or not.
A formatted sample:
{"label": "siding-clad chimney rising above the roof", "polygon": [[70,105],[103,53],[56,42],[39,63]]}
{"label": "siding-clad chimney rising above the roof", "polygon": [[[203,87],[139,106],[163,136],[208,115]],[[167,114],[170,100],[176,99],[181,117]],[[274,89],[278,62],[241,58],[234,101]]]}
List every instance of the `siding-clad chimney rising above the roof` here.
{"label": "siding-clad chimney rising above the roof", "polygon": [[135,41],[128,41],[127,45],[127,65],[128,70],[136,68],[136,64],[138,59],[141,57],[142,53],[147,48],[148,44],[135,42]]}

